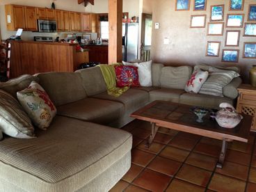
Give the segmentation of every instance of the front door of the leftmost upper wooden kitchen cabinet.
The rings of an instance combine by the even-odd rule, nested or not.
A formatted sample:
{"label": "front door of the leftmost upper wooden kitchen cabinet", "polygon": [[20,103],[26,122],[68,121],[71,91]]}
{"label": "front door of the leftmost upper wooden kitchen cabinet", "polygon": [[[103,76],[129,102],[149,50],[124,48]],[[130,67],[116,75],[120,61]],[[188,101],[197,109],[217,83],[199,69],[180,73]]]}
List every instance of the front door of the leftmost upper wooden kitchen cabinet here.
{"label": "front door of the leftmost upper wooden kitchen cabinet", "polygon": [[13,5],[13,27],[13,30],[17,30],[19,28],[26,29],[24,6]]}

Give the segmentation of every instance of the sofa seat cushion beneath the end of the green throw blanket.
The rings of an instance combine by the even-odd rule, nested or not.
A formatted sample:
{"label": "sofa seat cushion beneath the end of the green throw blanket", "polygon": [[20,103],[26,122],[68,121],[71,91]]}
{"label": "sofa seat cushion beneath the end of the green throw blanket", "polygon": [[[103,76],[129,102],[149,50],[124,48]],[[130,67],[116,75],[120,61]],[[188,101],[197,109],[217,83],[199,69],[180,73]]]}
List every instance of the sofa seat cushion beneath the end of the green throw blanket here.
{"label": "sofa seat cushion beneath the end of the green throw blanket", "polygon": [[146,91],[134,88],[130,88],[127,92],[120,95],[120,97],[113,97],[106,92],[93,95],[92,97],[120,102],[125,105],[125,112],[128,111],[131,113],[149,102],[149,94]]}

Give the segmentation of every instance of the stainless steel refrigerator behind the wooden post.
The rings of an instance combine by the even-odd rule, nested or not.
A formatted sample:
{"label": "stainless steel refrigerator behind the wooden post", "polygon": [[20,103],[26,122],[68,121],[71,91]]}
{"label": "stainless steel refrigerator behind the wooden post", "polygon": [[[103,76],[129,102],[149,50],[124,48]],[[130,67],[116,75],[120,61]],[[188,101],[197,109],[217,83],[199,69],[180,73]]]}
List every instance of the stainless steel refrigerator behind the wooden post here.
{"label": "stainless steel refrigerator behind the wooden post", "polygon": [[122,24],[122,61],[138,59],[138,23]]}

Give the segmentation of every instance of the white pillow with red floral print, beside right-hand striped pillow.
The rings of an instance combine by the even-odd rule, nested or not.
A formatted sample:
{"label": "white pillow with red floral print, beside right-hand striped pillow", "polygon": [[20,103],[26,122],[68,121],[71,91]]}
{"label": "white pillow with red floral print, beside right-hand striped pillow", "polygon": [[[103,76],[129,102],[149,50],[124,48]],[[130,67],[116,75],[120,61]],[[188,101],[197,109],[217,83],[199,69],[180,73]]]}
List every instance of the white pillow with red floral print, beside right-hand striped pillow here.
{"label": "white pillow with red floral print, beside right-hand striped pillow", "polygon": [[186,82],[185,90],[189,93],[198,93],[202,84],[205,83],[209,72],[203,72],[201,70],[195,70],[191,75],[189,81]]}

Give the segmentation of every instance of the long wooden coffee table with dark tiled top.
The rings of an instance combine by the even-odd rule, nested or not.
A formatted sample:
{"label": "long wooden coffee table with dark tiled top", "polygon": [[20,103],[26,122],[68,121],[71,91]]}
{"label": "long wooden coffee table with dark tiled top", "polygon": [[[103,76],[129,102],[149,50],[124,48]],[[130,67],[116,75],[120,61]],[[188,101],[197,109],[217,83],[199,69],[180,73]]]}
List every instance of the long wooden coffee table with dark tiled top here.
{"label": "long wooden coffee table with dark tiled top", "polygon": [[168,129],[175,129],[177,131],[184,131],[223,141],[221,154],[217,163],[217,167],[222,168],[227,150],[227,142],[248,142],[252,117],[250,115],[243,115],[243,120],[241,120],[237,127],[226,129],[218,126],[216,120],[211,119],[209,115],[203,118],[204,122],[196,122],[197,116],[191,111],[192,107],[173,102],[154,101],[132,113],[131,117],[151,122],[152,133],[148,139],[147,147],[154,140],[159,127],[166,127]]}

